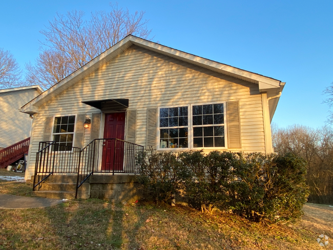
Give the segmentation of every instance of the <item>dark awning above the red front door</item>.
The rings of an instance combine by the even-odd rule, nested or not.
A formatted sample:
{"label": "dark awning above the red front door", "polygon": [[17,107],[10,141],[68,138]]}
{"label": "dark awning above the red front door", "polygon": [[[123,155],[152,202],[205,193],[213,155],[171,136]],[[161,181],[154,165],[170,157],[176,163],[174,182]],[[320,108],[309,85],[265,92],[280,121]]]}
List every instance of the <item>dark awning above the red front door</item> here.
{"label": "dark awning above the red front door", "polygon": [[103,112],[126,110],[129,107],[129,99],[93,100],[82,101],[82,103],[100,109]]}

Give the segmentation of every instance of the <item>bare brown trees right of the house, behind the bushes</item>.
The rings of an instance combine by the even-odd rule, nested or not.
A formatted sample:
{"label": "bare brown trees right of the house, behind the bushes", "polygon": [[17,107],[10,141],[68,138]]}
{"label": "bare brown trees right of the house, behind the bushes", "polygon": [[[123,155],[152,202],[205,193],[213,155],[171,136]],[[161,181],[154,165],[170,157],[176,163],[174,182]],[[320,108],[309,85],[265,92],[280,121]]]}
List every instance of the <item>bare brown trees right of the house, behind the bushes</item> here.
{"label": "bare brown trees right of the house, behind the bushes", "polygon": [[333,130],[324,126],[317,130],[305,126],[280,129],[273,126],[275,152],[294,153],[307,160],[309,201],[333,204]]}

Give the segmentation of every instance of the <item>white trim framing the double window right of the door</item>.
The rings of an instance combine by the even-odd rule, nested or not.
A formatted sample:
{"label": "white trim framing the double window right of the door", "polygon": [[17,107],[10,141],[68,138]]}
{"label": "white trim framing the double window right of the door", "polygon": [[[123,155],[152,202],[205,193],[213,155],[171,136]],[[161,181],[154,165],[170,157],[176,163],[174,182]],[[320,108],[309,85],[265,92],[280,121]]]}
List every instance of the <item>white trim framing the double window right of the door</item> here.
{"label": "white trim framing the double window right of the door", "polygon": [[[223,103],[223,126],[224,126],[224,147],[202,147],[202,148],[194,148],[193,147],[193,115],[192,115],[192,109],[193,106],[198,105],[214,105],[218,103]],[[175,107],[188,107],[188,126],[181,126],[181,127],[168,127],[169,128],[188,128],[188,141],[189,141],[189,147],[188,148],[160,148],[160,109],[164,108],[175,108]],[[192,103],[189,105],[173,105],[173,106],[161,106],[157,108],[157,141],[156,141],[156,149],[158,151],[184,151],[184,150],[226,150],[227,149],[227,121],[226,121],[226,101],[212,101],[212,102],[198,102],[198,103]],[[211,127],[215,126],[215,124],[207,124],[202,126],[196,126],[196,127]]]}

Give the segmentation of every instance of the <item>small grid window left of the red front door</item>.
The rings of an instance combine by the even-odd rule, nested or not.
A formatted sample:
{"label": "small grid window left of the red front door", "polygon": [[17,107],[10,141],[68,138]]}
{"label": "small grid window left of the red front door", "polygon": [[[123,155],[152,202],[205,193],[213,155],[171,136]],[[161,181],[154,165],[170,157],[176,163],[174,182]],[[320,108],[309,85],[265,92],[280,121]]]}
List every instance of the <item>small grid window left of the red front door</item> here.
{"label": "small grid window left of the red front door", "polygon": [[71,151],[74,137],[75,115],[56,116],[53,123],[53,140],[60,146],[54,151]]}

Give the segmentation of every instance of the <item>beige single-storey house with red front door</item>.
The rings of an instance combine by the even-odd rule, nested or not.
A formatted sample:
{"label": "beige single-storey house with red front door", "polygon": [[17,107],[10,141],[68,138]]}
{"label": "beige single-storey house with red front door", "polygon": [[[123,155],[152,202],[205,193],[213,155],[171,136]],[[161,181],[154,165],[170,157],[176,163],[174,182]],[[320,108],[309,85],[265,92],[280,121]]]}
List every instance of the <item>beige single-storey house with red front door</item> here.
{"label": "beige single-storey house with red front door", "polygon": [[76,192],[89,177],[120,183],[149,147],[271,153],[284,84],[129,35],[22,107],[33,116],[26,179],[39,189],[77,175]]}

